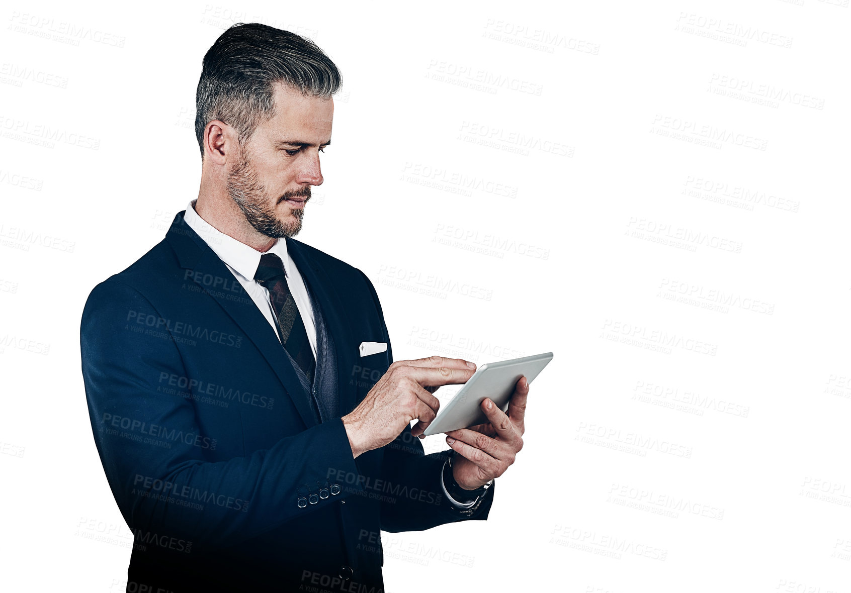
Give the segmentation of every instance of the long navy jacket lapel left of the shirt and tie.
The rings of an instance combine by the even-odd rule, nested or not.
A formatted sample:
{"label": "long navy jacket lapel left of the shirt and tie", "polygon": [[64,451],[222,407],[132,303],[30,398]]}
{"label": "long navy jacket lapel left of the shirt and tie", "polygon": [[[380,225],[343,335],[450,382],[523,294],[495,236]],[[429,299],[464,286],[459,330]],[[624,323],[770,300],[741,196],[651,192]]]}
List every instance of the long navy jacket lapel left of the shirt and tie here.
{"label": "long navy jacket lapel left of the shirt and tie", "polygon": [[[186,211],[181,211],[174,217],[174,222],[166,233],[166,240],[174,248],[174,253],[180,260],[180,266],[192,272],[184,275],[186,282],[190,282],[190,279],[191,282],[195,282],[210,298],[215,299],[233,321],[243,329],[246,337],[254,342],[254,345],[266,358],[266,362],[269,362],[269,365],[277,374],[277,378],[280,379],[288,396],[293,400],[305,425],[307,427],[316,425],[317,422],[311,409],[311,403],[307,399],[307,394],[302,388],[292,364],[288,361],[287,354],[283,351],[274,330],[266,321],[266,317],[263,316],[242,285],[237,282],[236,277],[228,270],[225,262],[186,224],[183,219],[184,212]],[[301,266],[299,270],[301,270]],[[220,290],[208,291],[207,286],[209,284],[205,285],[203,282],[205,275],[235,282],[236,290],[228,294]],[[231,298],[228,299],[228,296]],[[325,310],[323,309],[323,311]]]}

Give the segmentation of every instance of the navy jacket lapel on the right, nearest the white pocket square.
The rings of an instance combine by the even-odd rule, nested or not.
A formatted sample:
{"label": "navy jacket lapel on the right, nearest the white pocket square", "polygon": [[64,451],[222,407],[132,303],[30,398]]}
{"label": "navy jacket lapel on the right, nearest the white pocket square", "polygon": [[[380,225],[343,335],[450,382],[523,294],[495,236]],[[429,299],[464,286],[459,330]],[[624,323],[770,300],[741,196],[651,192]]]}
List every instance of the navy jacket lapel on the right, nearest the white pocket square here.
{"label": "navy jacket lapel on the right, nearest the white pocket square", "polygon": [[345,416],[357,405],[356,389],[351,381],[355,364],[355,342],[352,337],[351,324],[343,313],[346,304],[340,299],[340,294],[334,289],[334,282],[328,277],[328,272],[311,258],[310,252],[304,248],[304,243],[287,239],[287,253],[298,266],[301,277],[310,286],[311,292],[319,301],[325,317],[328,333],[334,339],[334,352],[337,358],[337,389],[340,392],[340,415]]}

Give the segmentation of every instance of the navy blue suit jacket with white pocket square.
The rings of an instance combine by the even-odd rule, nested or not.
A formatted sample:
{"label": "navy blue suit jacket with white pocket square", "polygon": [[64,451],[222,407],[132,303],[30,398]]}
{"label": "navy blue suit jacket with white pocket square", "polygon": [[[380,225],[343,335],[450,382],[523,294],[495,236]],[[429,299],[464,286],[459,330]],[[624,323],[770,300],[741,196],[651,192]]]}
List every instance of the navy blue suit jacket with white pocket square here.
{"label": "navy blue suit jacket with white pocket square", "polygon": [[[409,428],[353,459],[340,418],[317,424],[266,317],[183,215],[83,310],[94,440],[135,535],[127,590],[379,591],[380,530],[486,519],[494,488],[455,508],[446,453]],[[286,241],[334,339],[342,416],[392,362],[381,305],[362,271]],[[361,357],[363,341],[387,351]]]}

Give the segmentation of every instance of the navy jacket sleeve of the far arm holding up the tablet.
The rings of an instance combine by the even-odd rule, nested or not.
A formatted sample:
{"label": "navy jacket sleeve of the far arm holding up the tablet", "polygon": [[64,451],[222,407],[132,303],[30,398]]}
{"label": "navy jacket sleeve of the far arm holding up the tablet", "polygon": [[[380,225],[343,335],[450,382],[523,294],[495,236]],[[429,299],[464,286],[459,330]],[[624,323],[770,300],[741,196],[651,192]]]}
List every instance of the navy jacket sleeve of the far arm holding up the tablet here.
{"label": "navy jacket sleeve of the far arm holding up the tablet", "polygon": [[[363,274],[363,272],[361,272]],[[364,274],[369,290],[372,292],[375,307],[381,317],[384,339],[390,361],[393,355],[390,347],[390,335],[384,321],[384,312],[378,294],[369,278]],[[381,466],[381,479],[391,492],[400,495],[387,497],[381,502],[381,529],[388,532],[422,531],[444,523],[465,521],[468,519],[485,520],[494,501],[494,484],[488,488],[470,509],[453,505],[443,495],[441,486],[443,463],[452,450],[425,454],[420,439],[411,435],[410,426],[402,434],[384,447],[384,459]]]}

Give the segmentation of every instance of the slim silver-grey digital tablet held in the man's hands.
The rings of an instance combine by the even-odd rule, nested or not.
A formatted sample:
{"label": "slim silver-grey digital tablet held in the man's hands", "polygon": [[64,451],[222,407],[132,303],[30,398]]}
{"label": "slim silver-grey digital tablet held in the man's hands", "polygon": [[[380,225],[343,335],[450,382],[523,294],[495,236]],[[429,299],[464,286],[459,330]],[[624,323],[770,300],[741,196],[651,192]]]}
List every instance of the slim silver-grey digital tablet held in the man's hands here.
{"label": "slim silver-grey digital tablet held in the man's hands", "polygon": [[525,375],[531,384],[544,367],[552,360],[552,352],[523,356],[510,361],[488,362],[476,369],[473,376],[461,387],[446,408],[437,413],[437,418],[426,426],[426,436],[441,432],[467,428],[488,422],[482,411],[482,402],[486,397],[505,412],[514,393],[517,381]]}

